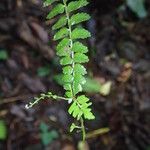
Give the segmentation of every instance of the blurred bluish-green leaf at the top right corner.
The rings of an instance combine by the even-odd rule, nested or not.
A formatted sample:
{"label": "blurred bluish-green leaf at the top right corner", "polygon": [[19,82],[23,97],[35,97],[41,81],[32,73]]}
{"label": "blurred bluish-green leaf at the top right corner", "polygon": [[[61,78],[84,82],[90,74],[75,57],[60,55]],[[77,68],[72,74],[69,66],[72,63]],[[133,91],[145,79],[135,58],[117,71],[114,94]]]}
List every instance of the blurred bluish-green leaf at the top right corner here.
{"label": "blurred bluish-green leaf at the top right corner", "polygon": [[147,16],[145,9],[145,0],[126,0],[127,6],[139,17],[144,18]]}

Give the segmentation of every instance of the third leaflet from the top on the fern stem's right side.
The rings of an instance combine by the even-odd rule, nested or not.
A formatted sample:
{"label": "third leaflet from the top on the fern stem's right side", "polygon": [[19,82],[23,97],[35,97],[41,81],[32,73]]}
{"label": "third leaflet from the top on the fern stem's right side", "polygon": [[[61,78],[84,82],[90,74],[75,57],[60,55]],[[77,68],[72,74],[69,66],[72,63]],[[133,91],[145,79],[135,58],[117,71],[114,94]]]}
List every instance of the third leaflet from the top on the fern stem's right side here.
{"label": "third leaflet from the top on the fern stem's right side", "polygon": [[91,33],[83,28],[75,28],[72,31],[72,39],[85,39],[91,36]]}

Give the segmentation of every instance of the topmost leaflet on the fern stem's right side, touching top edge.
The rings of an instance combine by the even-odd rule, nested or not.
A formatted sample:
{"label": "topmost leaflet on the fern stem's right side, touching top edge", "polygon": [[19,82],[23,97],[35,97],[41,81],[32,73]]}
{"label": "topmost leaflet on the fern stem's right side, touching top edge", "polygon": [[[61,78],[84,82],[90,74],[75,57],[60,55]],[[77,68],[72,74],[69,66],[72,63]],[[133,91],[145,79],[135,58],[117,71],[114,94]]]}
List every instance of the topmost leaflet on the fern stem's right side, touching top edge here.
{"label": "topmost leaflet on the fern stem's right side, touching top edge", "polygon": [[88,4],[86,0],[73,1],[68,4],[68,12],[72,12]]}

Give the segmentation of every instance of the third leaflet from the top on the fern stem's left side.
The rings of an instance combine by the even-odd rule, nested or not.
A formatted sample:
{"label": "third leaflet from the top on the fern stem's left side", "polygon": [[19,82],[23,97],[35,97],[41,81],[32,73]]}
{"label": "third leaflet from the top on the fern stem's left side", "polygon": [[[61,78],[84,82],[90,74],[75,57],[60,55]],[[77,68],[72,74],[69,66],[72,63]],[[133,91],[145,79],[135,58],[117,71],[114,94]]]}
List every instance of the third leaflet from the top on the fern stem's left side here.
{"label": "third leaflet from the top on the fern stem's left side", "polygon": [[66,16],[60,17],[60,19],[52,26],[52,30],[57,30],[67,24]]}

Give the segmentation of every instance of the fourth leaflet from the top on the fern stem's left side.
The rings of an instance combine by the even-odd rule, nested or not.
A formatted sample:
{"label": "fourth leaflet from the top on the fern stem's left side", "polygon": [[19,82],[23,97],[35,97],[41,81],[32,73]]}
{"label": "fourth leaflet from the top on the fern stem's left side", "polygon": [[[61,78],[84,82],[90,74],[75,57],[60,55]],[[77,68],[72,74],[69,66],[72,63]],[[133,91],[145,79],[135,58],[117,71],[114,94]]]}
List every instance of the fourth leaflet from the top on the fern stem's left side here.
{"label": "fourth leaflet from the top on the fern stem's left side", "polygon": [[66,37],[69,34],[69,31],[66,27],[60,29],[55,35],[54,35],[54,40],[59,40],[64,37]]}

